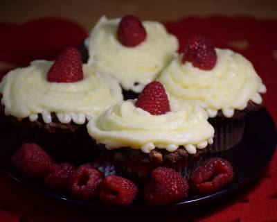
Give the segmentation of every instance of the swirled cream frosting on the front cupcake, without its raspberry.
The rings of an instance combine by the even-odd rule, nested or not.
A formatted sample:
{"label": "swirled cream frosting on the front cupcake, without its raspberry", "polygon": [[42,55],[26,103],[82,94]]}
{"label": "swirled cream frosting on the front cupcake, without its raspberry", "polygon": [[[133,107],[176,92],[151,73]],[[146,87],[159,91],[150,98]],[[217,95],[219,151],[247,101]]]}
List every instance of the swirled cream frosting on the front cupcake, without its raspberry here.
{"label": "swirled cream frosting on the front cupcake, without its raspberry", "polygon": [[171,111],[155,116],[136,108],[135,100],[122,101],[87,124],[89,135],[107,149],[130,147],[150,153],[184,146],[194,154],[213,143],[214,129],[206,112],[193,103],[170,103]]}

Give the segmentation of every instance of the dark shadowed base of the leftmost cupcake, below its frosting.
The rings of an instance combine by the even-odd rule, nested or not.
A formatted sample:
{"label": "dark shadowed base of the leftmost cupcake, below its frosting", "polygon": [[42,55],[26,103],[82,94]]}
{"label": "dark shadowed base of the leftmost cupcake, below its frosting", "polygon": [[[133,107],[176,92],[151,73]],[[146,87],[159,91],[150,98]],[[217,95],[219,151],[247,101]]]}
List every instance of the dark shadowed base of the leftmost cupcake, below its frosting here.
{"label": "dark shadowed base of the leftmost cupcake, below its frosting", "polygon": [[15,117],[5,119],[14,132],[13,139],[19,146],[36,143],[57,162],[83,164],[98,157],[98,149],[87,133],[86,123],[60,123],[55,115],[51,123],[44,123],[42,117],[33,122],[28,118],[21,121]]}

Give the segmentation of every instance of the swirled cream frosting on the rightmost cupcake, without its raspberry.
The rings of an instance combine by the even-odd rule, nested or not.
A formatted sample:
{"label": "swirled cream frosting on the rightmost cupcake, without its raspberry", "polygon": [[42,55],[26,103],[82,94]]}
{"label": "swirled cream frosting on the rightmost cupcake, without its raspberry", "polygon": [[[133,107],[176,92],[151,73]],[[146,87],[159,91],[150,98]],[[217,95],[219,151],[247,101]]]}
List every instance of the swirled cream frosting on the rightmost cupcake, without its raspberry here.
{"label": "swirled cream frosting on the rightmost cupcake, without its raspberry", "polygon": [[250,100],[262,103],[260,93],[265,93],[266,87],[251,62],[229,49],[216,49],[216,53],[216,65],[208,71],[191,62],[183,64],[180,55],[163,70],[159,81],[175,99],[199,102],[209,117],[215,117],[218,110],[232,117]]}

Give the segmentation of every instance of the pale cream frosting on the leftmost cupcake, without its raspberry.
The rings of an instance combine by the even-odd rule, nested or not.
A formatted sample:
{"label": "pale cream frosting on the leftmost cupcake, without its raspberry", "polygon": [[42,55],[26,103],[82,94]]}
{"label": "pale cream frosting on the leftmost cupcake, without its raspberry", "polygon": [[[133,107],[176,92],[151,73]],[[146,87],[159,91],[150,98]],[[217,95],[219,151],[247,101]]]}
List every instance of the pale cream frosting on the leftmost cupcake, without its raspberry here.
{"label": "pale cream frosting on the leftmost cupcake, without its raspberry", "polygon": [[42,114],[50,123],[55,113],[62,123],[85,123],[111,105],[123,100],[120,86],[110,76],[98,74],[83,65],[84,79],[75,83],[50,83],[46,80],[53,62],[37,60],[29,67],[10,71],[0,84],[6,115],[35,121]]}

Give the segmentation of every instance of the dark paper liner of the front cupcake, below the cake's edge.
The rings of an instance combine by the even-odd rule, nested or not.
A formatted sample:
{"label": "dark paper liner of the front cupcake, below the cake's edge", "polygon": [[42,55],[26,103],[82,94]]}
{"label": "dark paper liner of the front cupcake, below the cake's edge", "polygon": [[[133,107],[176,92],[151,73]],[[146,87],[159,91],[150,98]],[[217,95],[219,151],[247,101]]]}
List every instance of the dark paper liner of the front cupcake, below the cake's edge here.
{"label": "dark paper liner of the front cupcake, below the cake's edge", "polygon": [[193,170],[202,162],[203,153],[197,155],[188,155],[184,160],[173,163],[156,163],[156,162],[134,162],[132,160],[112,160],[116,174],[128,178],[136,184],[144,187],[151,178],[151,173],[157,167],[169,167],[174,169],[181,176],[189,180]]}

